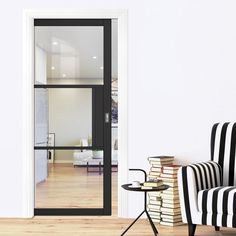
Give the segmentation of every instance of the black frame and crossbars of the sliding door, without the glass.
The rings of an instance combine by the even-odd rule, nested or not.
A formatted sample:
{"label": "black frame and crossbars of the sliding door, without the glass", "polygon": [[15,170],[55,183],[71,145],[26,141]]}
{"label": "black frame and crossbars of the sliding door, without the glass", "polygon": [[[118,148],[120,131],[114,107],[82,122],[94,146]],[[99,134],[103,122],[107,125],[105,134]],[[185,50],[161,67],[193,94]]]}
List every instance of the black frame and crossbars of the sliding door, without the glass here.
{"label": "black frame and crossbars of the sliding door, without the glass", "polygon": [[[73,150],[73,149],[103,149],[103,208],[35,208],[34,215],[111,215],[111,19],[34,19],[34,26],[103,26],[103,85],[34,85],[34,88],[103,88],[103,147],[78,146],[35,146],[34,150]],[[94,92],[93,92],[94,94]],[[105,114],[109,114],[109,121],[105,122]],[[94,117],[94,116],[93,116]],[[93,118],[94,119],[94,118]],[[93,120],[94,123],[94,120]],[[93,130],[94,132],[94,130]],[[79,196],[78,196],[79,198]]]}

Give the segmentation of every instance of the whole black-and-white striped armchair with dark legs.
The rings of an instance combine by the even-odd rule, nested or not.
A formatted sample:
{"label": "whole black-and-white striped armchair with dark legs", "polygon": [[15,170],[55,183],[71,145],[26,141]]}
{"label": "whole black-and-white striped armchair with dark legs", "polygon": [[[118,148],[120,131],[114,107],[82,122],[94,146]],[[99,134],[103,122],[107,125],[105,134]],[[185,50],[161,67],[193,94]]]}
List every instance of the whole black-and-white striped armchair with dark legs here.
{"label": "whole black-and-white striped armchair with dark legs", "polygon": [[[236,123],[217,123],[211,133],[211,161],[178,171],[183,222],[189,236],[196,225],[236,228]],[[207,235],[207,234],[206,234]]]}

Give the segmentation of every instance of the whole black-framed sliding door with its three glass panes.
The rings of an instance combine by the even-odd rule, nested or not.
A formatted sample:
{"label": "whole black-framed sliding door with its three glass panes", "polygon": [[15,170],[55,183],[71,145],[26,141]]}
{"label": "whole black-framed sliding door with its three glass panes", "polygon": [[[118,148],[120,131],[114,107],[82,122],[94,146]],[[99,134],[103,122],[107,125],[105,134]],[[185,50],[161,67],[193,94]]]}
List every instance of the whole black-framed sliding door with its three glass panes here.
{"label": "whole black-framed sliding door with its three glass panes", "polygon": [[35,215],[110,215],[111,20],[34,27]]}

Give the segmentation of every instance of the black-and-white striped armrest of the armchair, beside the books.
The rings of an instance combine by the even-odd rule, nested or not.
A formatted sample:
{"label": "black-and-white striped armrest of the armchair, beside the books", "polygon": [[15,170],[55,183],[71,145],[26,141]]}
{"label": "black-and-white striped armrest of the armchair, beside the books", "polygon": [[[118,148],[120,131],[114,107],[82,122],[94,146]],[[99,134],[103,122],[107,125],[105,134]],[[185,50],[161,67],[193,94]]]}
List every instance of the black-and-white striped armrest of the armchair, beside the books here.
{"label": "black-and-white striped armrest of the armchair, beside the books", "polygon": [[221,166],[214,161],[183,166],[178,171],[178,184],[183,222],[194,224],[199,219],[197,194],[221,186]]}

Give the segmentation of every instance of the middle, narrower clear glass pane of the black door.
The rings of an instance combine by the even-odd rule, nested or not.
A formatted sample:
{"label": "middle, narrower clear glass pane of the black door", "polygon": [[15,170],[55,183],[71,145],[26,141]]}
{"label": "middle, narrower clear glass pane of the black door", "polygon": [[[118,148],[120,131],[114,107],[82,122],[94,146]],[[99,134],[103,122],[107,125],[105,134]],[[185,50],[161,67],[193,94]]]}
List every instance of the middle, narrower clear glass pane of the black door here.
{"label": "middle, narrower clear glass pane of the black door", "polygon": [[49,146],[92,145],[92,89],[35,89],[35,146],[49,140]]}

